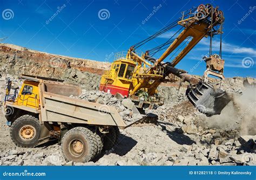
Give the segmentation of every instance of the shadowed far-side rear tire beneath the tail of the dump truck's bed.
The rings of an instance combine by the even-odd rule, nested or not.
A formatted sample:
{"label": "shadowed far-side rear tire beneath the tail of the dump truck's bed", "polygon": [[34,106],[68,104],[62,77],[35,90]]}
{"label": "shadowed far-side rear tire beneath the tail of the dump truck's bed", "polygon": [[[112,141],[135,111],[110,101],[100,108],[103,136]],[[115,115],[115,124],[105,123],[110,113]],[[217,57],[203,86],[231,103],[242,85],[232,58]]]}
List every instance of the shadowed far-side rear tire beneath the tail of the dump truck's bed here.
{"label": "shadowed far-side rear tire beneath the tail of the dump truck's bed", "polygon": [[104,137],[103,149],[110,150],[117,143],[120,132],[118,127],[110,127],[109,133]]}

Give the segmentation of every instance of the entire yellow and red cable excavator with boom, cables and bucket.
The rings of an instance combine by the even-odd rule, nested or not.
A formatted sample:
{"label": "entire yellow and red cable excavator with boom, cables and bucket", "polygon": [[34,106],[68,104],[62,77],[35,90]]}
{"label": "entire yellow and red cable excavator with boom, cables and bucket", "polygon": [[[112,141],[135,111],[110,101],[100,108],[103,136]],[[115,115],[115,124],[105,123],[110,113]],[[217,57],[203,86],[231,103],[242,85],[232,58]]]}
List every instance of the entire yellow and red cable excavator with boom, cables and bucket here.
{"label": "entire yellow and red cable excavator with boom, cables and bucket", "polygon": [[[199,112],[207,116],[220,114],[230,99],[223,89],[213,88],[207,77],[213,75],[224,79],[224,60],[221,59],[223,11],[218,7],[214,8],[211,4],[201,4],[197,8],[181,12],[181,15],[175,22],[131,46],[127,52],[117,53],[111,69],[102,75],[100,91],[113,95],[120,93],[130,98],[138,108],[154,108],[164,104],[164,98],[157,94],[157,88],[161,82],[174,82],[179,77],[190,83],[186,95]],[[139,53],[139,47],[176,26],[180,26],[180,29],[165,43]],[[212,54],[212,38],[217,34],[220,35],[220,52]],[[204,37],[210,37],[210,56],[204,57],[206,71],[203,77],[198,79],[184,70],[175,68]],[[181,48],[183,49],[180,50]],[[161,51],[164,52],[161,53]],[[177,52],[178,55],[174,56]],[[159,53],[159,58],[153,57]],[[170,54],[173,54],[170,58],[171,63],[164,63]]]}

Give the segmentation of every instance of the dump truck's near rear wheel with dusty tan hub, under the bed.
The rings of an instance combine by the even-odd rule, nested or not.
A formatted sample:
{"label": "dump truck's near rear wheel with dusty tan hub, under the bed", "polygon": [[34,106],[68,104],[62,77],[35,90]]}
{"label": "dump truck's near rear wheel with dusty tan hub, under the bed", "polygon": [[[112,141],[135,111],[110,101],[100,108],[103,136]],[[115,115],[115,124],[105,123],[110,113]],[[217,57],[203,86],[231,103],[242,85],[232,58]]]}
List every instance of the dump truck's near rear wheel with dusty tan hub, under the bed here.
{"label": "dump truck's near rear wheel with dusty tan hub, under the bed", "polygon": [[98,142],[90,129],[76,127],[65,133],[62,151],[68,161],[89,162],[97,155]]}

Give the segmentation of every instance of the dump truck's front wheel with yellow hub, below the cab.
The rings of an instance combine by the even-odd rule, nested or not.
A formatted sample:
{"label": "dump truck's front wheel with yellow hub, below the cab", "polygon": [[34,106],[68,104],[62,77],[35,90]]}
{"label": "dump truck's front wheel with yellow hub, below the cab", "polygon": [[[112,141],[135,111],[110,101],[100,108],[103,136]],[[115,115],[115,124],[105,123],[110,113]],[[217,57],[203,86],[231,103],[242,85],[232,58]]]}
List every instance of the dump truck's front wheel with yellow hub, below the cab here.
{"label": "dump truck's front wheel with yellow hub, below the cab", "polygon": [[11,139],[16,146],[36,147],[40,135],[39,120],[31,115],[18,117],[11,125]]}

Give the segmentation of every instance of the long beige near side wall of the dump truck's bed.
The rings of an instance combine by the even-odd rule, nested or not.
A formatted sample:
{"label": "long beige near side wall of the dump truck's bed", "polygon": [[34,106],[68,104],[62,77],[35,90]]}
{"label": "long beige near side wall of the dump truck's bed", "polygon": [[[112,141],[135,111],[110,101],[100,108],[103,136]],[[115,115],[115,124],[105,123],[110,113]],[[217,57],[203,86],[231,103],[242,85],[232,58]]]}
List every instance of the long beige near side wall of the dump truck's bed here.
{"label": "long beige near side wall of the dump truck's bed", "polygon": [[43,98],[43,121],[118,126],[121,129],[126,126],[114,107],[46,92]]}

